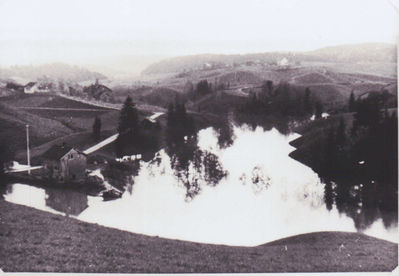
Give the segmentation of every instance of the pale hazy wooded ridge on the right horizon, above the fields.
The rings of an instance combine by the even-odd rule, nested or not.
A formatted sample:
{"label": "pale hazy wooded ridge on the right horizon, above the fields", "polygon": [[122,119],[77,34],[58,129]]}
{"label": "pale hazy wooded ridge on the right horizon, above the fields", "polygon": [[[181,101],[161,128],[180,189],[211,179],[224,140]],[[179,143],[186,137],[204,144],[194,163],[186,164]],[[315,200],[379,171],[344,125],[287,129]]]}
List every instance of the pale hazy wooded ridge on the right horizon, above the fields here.
{"label": "pale hazy wooded ridge on the right horizon, above the fields", "polygon": [[395,63],[396,45],[386,43],[363,43],[331,46],[309,52],[269,52],[244,55],[201,54],[162,60],[143,70],[143,74],[180,73],[208,67],[234,67],[237,64],[278,64],[287,59],[291,64],[301,62],[334,63]]}

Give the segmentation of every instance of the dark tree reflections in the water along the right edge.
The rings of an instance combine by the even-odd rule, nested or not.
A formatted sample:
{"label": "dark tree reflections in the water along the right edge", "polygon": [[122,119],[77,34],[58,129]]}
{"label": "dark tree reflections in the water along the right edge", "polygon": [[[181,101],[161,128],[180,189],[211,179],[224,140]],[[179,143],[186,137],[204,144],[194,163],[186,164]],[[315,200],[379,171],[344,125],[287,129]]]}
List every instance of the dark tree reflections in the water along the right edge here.
{"label": "dark tree reflections in the water along the right edge", "polygon": [[328,210],[335,204],[339,213],[351,217],[357,230],[367,229],[378,219],[390,227],[398,221],[398,198],[393,186],[372,180],[357,185],[326,181],[324,199]]}

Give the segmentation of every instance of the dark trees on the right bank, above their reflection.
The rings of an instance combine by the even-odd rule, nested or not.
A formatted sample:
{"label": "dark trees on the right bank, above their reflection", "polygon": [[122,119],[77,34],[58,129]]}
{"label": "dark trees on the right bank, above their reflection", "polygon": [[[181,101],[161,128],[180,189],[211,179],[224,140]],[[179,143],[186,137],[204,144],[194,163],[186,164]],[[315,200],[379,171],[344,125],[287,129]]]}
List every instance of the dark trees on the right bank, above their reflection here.
{"label": "dark trees on the right bank, above their reflection", "polygon": [[384,108],[384,102],[374,94],[357,101],[351,96],[348,106],[353,115],[341,117],[325,134],[320,170],[327,176],[362,176],[397,183],[396,112]]}

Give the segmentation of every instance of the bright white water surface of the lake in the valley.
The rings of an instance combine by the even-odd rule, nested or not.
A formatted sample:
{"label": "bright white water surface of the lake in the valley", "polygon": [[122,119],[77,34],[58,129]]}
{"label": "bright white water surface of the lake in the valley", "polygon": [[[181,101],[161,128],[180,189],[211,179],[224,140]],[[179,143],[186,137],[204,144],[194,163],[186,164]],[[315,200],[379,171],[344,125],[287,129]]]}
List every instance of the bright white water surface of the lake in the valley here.
{"label": "bright white water surface of the lake in the valley", "polygon": [[[196,242],[254,246],[315,231],[362,231],[397,242],[397,213],[376,210],[370,219],[361,200],[351,205],[355,209],[343,208],[337,184],[322,183],[288,156],[297,134],[245,126],[230,134],[223,140],[226,135],[208,128],[150,162],[140,161],[120,199],[24,184],[9,185],[3,197],[134,233]],[[359,187],[349,191],[353,198]],[[326,200],[326,190],[333,200]]]}

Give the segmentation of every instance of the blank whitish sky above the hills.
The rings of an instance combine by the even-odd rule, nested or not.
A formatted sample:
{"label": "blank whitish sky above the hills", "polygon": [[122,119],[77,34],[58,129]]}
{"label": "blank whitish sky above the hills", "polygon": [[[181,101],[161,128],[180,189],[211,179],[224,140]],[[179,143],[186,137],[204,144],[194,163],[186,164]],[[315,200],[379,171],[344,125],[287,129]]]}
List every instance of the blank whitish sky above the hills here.
{"label": "blank whitish sky above the hills", "polygon": [[0,0],[0,65],[395,43],[397,0]]}

